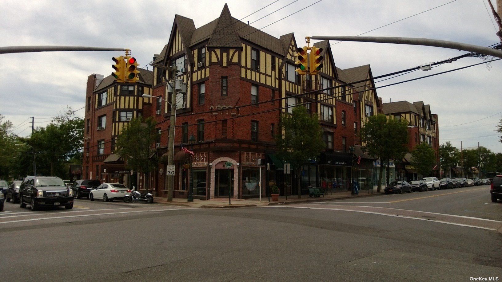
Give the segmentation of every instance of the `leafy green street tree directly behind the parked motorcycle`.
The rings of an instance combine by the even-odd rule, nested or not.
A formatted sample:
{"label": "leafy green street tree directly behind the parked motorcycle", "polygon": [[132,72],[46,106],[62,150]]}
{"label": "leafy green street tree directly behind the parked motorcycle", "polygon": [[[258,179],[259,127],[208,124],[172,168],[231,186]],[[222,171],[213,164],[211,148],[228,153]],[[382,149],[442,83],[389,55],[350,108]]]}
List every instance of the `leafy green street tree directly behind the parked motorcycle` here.
{"label": "leafy green street tree directly behind the parked motorcycle", "polygon": [[138,117],[122,128],[115,152],[126,162],[128,169],[148,174],[157,168],[158,158],[152,146],[157,137],[156,124],[152,116],[145,121]]}

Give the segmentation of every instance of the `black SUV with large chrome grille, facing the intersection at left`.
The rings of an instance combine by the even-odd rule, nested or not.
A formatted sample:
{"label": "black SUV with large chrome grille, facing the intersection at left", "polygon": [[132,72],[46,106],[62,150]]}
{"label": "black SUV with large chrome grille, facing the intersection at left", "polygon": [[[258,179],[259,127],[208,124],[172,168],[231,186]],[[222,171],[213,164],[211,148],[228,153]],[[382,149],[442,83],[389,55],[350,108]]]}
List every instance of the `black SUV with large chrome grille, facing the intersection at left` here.
{"label": "black SUV with large chrome grille, facing the intersection at left", "polygon": [[27,177],[19,187],[19,206],[26,204],[35,211],[41,206],[73,208],[73,191],[63,180],[54,176]]}

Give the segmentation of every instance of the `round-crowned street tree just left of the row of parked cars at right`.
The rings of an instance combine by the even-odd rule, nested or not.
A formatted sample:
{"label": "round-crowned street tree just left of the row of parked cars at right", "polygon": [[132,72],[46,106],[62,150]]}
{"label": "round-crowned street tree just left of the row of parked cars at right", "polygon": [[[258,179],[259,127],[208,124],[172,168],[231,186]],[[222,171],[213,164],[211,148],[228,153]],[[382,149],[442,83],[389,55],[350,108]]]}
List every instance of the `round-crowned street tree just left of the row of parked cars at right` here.
{"label": "round-crowned street tree just left of the row of parked cars at right", "polygon": [[[363,151],[373,158],[380,159],[380,175],[376,188],[376,192],[380,192],[384,161],[389,167],[390,160],[401,160],[408,152],[408,122],[388,118],[385,114],[372,115],[361,128],[361,142]],[[387,182],[389,182],[389,172],[387,172]]]}

